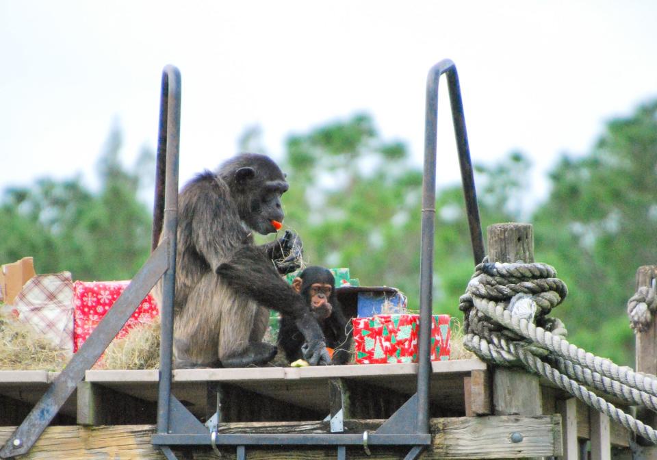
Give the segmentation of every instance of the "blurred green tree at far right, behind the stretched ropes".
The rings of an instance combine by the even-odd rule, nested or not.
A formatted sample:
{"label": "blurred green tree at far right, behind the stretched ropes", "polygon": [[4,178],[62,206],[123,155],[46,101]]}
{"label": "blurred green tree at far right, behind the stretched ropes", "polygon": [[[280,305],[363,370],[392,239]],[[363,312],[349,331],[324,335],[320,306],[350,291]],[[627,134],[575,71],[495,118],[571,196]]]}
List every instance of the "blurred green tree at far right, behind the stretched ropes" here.
{"label": "blurred green tree at far right, behind the stretched ropes", "polygon": [[563,156],[550,179],[534,222],[537,248],[569,286],[555,314],[575,343],[632,364],[626,302],[636,268],[657,263],[657,101],[610,120],[591,153]]}

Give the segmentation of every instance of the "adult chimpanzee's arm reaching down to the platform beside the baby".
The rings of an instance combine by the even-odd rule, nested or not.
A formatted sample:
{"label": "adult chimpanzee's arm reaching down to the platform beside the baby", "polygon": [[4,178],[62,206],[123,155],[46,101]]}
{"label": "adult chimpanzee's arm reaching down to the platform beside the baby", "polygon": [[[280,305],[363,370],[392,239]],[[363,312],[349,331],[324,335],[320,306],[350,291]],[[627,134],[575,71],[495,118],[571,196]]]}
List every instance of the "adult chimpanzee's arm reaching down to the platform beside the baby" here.
{"label": "adult chimpanzee's arm reaching down to the platform beside the baby", "polygon": [[317,320],[302,296],[281,279],[263,248],[243,246],[215,271],[236,292],[250,297],[263,307],[292,316],[308,344],[306,361],[313,365],[331,361]]}

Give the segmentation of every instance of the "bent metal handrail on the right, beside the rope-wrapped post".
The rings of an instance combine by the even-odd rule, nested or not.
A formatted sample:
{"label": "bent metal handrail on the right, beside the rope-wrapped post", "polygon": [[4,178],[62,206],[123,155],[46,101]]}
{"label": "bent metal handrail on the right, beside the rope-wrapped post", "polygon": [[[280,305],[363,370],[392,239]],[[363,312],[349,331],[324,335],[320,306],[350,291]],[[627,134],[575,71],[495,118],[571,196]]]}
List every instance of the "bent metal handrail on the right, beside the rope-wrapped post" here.
{"label": "bent metal handrail on the right, beside the rope-wrapped post", "polygon": [[451,60],[442,60],[433,66],[426,82],[426,112],[424,122],[424,175],[422,179],[422,254],[420,256],[420,364],[417,372],[417,429],[428,433],[429,429],[429,385],[431,376],[430,361],[430,330],[433,307],[433,245],[435,233],[435,203],[436,203],[436,146],[437,146],[437,113],[438,84],[440,76],[447,74],[450,103],[452,107],[452,122],[456,136],[456,147],[459,151],[461,165],[461,180],[465,195],[472,240],[472,251],[475,265],[484,257],[484,243],[479,219],[472,162],[470,161],[467,132],[465,131],[465,116],[463,101],[456,66]]}

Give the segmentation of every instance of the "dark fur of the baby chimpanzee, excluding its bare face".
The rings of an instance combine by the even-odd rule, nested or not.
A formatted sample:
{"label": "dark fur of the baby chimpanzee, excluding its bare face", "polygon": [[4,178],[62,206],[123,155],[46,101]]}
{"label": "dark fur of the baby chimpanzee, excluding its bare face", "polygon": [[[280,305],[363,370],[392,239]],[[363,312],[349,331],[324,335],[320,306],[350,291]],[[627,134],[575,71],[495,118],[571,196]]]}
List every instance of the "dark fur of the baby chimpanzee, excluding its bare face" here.
{"label": "dark fur of the baby chimpanzee, excluding its bare face", "polygon": [[[305,268],[298,277],[301,279],[301,296],[304,298],[308,309],[312,309],[309,291],[313,283],[335,285],[333,274],[324,267],[313,266]],[[326,337],[326,346],[333,348],[333,359],[331,363],[346,364],[350,358],[351,334],[346,333],[348,320],[345,318],[342,306],[337,300],[335,288],[331,290],[331,296],[329,296],[328,301],[332,307],[331,315],[326,319],[318,318],[318,322],[322,327],[324,337]],[[300,333],[294,318],[285,314],[281,316],[278,343],[283,348],[288,361],[294,362],[302,358],[301,347],[305,343],[304,335]]]}

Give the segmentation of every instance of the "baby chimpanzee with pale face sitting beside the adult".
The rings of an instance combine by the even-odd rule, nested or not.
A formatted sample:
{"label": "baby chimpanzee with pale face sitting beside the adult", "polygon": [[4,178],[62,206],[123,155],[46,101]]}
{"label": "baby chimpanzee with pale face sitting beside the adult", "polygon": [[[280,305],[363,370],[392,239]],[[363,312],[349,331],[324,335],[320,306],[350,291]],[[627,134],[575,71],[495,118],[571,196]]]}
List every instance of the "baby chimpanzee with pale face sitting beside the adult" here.
{"label": "baby chimpanzee with pale face sitting beside the adult", "polygon": [[[342,307],[335,295],[335,279],[330,270],[324,267],[308,267],[292,281],[292,288],[305,299],[307,308],[324,331],[326,345],[333,348],[333,364],[345,364],[349,361],[349,346],[351,335],[345,329],[348,320],[344,317]],[[305,346],[304,335],[296,327],[294,318],[283,314],[279,345],[285,352],[285,357],[292,362],[302,357]]]}

